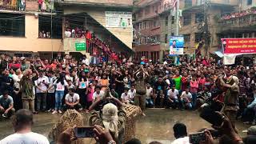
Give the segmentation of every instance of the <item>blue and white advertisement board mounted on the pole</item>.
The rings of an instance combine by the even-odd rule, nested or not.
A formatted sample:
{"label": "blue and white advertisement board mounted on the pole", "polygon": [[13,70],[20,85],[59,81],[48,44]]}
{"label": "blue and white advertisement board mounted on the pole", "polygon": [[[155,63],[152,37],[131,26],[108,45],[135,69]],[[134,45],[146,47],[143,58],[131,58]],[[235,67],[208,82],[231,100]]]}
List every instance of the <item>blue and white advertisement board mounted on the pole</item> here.
{"label": "blue and white advertisement board mounted on the pole", "polygon": [[184,37],[183,36],[171,36],[170,37],[170,55],[183,54]]}

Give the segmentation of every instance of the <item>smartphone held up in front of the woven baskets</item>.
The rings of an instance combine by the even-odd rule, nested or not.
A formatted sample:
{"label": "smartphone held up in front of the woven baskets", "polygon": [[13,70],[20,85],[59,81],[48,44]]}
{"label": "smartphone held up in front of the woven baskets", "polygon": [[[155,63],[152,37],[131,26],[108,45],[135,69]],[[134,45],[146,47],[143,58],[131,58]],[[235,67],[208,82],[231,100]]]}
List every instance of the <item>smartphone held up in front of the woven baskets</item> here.
{"label": "smartphone held up in front of the woven baskets", "polygon": [[94,138],[94,127],[75,127],[74,135],[76,138]]}

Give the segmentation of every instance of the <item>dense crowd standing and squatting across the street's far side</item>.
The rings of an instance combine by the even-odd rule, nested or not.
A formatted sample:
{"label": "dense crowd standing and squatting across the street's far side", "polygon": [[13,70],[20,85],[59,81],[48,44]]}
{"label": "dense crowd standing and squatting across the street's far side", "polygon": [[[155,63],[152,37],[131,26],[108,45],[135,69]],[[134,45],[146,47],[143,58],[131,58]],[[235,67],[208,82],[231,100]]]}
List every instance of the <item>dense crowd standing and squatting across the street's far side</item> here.
{"label": "dense crowd standing and squatting across the street's far side", "polygon": [[116,103],[140,106],[142,111],[146,107],[223,109],[234,130],[235,118],[254,124],[256,66],[224,66],[207,57],[180,57],[176,64],[169,58],[164,61],[143,57],[93,63],[85,56],[76,60],[68,54],[52,60],[2,54],[0,112],[4,118],[20,109],[33,114],[61,114],[68,109],[88,113],[102,110],[95,103],[110,95]]}

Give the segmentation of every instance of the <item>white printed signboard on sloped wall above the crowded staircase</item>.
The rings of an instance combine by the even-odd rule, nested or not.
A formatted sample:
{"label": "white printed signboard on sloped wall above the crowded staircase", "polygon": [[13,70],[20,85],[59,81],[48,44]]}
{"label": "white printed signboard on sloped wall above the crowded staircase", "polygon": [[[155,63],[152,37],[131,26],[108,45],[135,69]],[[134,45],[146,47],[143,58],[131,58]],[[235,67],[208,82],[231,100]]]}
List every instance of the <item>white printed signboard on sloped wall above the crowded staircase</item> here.
{"label": "white printed signboard on sloped wall above the crowded staircase", "polygon": [[106,11],[106,27],[132,27],[132,13]]}

